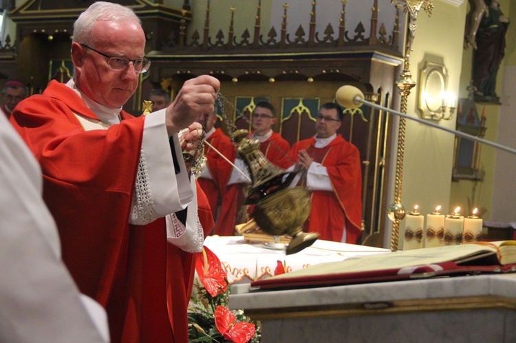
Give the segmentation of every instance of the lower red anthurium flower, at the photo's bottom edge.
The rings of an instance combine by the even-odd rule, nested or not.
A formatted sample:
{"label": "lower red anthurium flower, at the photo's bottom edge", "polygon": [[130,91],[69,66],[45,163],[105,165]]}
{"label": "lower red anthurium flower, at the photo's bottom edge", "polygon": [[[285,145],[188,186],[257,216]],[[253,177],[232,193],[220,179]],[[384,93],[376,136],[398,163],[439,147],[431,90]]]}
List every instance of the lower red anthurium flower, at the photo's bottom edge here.
{"label": "lower red anthurium flower, at the photo's bottom edge", "polygon": [[226,307],[215,309],[215,326],[226,340],[235,343],[246,343],[255,335],[255,325],[250,322],[237,322],[237,317]]}

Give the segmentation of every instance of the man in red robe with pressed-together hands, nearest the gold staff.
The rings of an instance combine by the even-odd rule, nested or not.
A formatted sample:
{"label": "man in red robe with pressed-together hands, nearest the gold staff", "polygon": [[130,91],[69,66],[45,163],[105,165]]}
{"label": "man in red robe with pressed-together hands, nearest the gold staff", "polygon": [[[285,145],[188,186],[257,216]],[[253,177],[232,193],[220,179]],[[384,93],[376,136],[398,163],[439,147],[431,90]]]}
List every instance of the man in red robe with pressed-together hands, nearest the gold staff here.
{"label": "man in red robe with pressed-together hands, nearest the gold staff", "polygon": [[360,153],[336,131],[343,112],[323,104],[316,116],[316,135],[292,146],[290,157],[303,166],[305,186],[312,190],[308,232],[327,241],[356,243],[362,223]]}

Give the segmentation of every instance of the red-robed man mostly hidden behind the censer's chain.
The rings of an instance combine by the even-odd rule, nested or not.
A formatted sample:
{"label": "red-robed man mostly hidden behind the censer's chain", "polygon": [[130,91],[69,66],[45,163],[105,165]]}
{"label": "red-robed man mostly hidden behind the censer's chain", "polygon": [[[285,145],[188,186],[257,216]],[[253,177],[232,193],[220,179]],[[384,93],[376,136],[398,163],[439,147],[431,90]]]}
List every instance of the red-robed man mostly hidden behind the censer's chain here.
{"label": "red-robed man mostly hidden behind the censer's chain", "polygon": [[[200,115],[197,122],[204,124],[204,117],[205,115]],[[226,191],[231,170],[233,169],[233,166],[224,157],[231,162],[235,161],[235,147],[230,138],[222,132],[222,129],[215,128],[216,122],[217,114],[215,112],[208,115],[206,119],[206,135],[204,136],[204,141],[208,143],[204,145],[204,156],[207,159],[206,168],[204,168],[198,179],[202,190],[204,190],[208,197],[215,221],[219,217],[222,195]],[[217,153],[215,149],[222,153],[224,157]],[[214,233],[226,236],[232,232],[222,232],[216,226]]]}

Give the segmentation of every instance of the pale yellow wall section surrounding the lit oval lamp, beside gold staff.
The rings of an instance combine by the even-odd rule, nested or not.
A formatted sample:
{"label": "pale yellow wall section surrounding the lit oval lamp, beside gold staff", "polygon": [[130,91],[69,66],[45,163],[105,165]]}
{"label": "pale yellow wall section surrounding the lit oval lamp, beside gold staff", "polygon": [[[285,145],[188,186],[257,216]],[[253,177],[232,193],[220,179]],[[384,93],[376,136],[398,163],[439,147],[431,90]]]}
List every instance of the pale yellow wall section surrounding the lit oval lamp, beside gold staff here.
{"label": "pale yellow wall section surrounding the lit oval lamp, beside gold staff", "polygon": [[[407,114],[418,116],[419,71],[424,62],[441,63],[448,71],[449,91],[458,94],[462,64],[462,36],[466,3],[452,5],[434,0],[431,17],[420,11],[411,53],[411,74],[418,85],[409,96]],[[455,120],[432,121],[455,129]],[[454,136],[451,133],[407,120],[405,163],[402,179],[402,204],[411,210],[418,204],[420,212],[433,212],[437,205],[449,212]],[[394,163],[393,163],[394,164]],[[393,198],[394,199],[394,198]],[[464,204],[465,205],[465,204]],[[405,223],[400,223],[403,228]]]}

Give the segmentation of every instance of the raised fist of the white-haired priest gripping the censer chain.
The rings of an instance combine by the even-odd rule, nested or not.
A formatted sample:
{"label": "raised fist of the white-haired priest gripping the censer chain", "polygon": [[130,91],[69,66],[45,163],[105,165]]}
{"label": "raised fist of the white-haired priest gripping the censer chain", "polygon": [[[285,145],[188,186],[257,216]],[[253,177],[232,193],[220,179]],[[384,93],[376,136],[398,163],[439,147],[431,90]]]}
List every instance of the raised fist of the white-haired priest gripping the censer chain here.
{"label": "raised fist of the white-haired priest gripping the censer chain", "polygon": [[175,100],[166,108],[166,131],[171,137],[195,122],[199,115],[213,113],[220,82],[208,75],[184,82]]}

